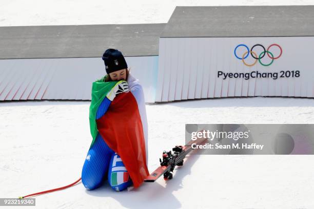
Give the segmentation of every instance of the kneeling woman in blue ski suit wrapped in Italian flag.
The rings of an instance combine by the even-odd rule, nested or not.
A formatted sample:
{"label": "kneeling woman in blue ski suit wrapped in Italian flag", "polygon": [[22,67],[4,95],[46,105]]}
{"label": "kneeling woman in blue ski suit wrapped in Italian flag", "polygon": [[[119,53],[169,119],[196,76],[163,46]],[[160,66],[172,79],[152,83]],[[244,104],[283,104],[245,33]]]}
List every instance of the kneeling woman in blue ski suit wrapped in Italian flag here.
{"label": "kneeling woman in blue ski suit wrapped in Italian flag", "polygon": [[82,170],[88,190],[108,178],[113,190],[139,187],[147,170],[147,119],[143,89],[119,50],[103,55],[106,72],[93,82],[89,109],[93,137]]}

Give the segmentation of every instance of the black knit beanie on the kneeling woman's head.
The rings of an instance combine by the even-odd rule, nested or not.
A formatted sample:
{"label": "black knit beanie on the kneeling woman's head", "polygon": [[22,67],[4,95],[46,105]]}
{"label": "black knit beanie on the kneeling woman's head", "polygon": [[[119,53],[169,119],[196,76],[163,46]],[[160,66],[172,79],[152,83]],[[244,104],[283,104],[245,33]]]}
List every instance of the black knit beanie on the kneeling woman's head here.
{"label": "black knit beanie on the kneeling woman's head", "polygon": [[128,68],[124,56],[117,49],[107,49],[103,54],[107,74]]}

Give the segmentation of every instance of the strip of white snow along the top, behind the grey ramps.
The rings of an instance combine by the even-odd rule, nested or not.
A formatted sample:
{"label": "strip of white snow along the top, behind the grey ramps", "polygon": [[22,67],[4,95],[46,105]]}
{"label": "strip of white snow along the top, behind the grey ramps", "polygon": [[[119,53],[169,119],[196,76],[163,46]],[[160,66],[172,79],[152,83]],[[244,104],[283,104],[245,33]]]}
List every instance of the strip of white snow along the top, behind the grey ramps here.
{"label": "strip of white snow along the top, behind the grey ramps", "polygon": [[313,4],[313,0],[2,0],[0,26],[167,23],[175,6]]}

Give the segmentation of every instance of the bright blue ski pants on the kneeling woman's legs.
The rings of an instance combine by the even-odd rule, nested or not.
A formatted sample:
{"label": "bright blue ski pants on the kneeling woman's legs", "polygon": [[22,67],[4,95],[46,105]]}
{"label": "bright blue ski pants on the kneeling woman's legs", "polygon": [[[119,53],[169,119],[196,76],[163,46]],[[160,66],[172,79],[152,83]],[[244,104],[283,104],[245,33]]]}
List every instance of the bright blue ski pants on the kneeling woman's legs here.
{"label": "bright blue ski pants on the kneeling woman's legs", "polygon": [[132,185],[132,180],[118,154],[111,150],[98,133],[89,149],[82,170],[82,183],[87,190],[100,187],[108,177],[115,191],[123,191]]}

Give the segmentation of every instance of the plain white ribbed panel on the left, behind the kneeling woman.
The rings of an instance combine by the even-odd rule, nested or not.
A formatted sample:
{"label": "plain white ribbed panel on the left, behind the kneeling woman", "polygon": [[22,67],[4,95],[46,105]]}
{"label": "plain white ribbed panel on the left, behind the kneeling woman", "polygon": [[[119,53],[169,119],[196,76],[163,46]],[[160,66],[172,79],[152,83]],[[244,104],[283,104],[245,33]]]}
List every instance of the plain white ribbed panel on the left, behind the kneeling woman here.
{"label": "plain white ribbed panel on the left, behind the kneeling woman", "polygon": [[[145,102],[154,102],[158,56],[125,59],[143,86]],[[92,82],[105,74],[100,57],[0,59],[0,100],[90,100]]]}

